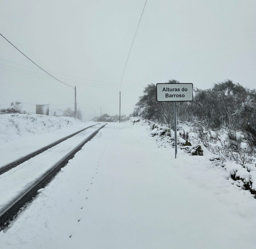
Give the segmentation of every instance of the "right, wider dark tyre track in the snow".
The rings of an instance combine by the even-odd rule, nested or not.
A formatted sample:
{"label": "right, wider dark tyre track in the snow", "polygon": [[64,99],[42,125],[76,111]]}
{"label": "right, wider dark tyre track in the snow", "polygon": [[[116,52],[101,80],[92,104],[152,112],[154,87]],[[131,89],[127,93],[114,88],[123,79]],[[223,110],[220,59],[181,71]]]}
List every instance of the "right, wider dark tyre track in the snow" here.
{"label": "right, wider dark tyre track in the snow", "polygon": [[[107,124],[105,124],[107,125]],[[0,216],[0,231],[4,230],[10,222],[15,220],[18,214],[23,211],[26,206],[38,194],[38,190],[45,188],[45,186],[51,182],[51,180],[58,174],[62,167],[65,167],[70,159],[72,159],[75,154],[82,149],[84,144],[89,142],[98,132],[100,129],[105,127],[105,125],[101,126],[95,132],[92,133],[86,140],[84,140],[81,144],[79,144],[72,152],[70,152],[67,156],[63,157],[56,165],[54,165],[50,170],[45,172],[44,176],[33,186],[31,186],[28,190],[26,190],[23,194],[20,195],[10,206],[9,208]]]}

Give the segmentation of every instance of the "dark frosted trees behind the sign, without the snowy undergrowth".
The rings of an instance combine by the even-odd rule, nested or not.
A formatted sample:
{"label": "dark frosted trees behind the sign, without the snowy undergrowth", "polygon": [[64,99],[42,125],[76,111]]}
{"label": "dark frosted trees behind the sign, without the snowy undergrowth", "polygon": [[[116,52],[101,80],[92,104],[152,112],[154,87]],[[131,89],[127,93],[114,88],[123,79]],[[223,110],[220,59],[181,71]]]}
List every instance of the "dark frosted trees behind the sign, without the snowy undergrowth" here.
{"label": "dark frosted trees behind the sign, without the snowy undergrowth", "polygon": [[[180,83],[170,80],[166,83]],[[156,85],[148,84],[135,105],[133,116],[140,116],[174,127],[173,102],[156,101]],[[256,129],[256,90],[231,80],[214,84],[209,89],[193,90],[194,101],[176,102],[177,121],[202,122],[205,127],[227,127],[241,130]]]}

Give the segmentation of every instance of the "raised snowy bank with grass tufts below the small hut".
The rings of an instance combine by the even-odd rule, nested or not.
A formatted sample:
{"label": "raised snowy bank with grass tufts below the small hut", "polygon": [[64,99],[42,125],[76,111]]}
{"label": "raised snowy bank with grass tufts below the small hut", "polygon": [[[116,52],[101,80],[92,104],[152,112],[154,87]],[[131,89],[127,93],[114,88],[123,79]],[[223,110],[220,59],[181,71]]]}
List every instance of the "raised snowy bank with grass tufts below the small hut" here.
{"label": "raised snowy bank with grass tufts below the small hut", "polygon": [[64,127],[79,124],[69,117],[55,117],[38,114],[1,114],[0,143],[9,142],[20,136],[54,132]]}

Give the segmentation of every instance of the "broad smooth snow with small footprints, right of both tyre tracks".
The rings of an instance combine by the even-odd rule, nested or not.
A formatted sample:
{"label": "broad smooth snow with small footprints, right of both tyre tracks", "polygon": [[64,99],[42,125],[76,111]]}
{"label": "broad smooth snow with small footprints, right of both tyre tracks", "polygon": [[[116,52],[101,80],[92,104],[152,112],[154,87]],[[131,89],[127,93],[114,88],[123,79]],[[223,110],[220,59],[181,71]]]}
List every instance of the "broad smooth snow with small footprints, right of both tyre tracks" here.
{"label": "broad smooth snow with small footprints, right of both tyre tracks", "polygon": [[175,159],[141,123],[101,129],[0,232],[0,248],[254,249],[249,191],[207,153]]}

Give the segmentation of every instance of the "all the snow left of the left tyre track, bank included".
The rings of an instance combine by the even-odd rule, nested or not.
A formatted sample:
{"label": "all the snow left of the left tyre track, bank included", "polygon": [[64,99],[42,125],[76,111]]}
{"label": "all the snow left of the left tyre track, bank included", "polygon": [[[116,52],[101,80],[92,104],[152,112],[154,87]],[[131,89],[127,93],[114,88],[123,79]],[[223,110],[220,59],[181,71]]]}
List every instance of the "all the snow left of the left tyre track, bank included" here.
{"label": "all the snow left of the left tyre track, bank included", "polygon": [[0,115],[0,167],[95,122],[37,114]]}

